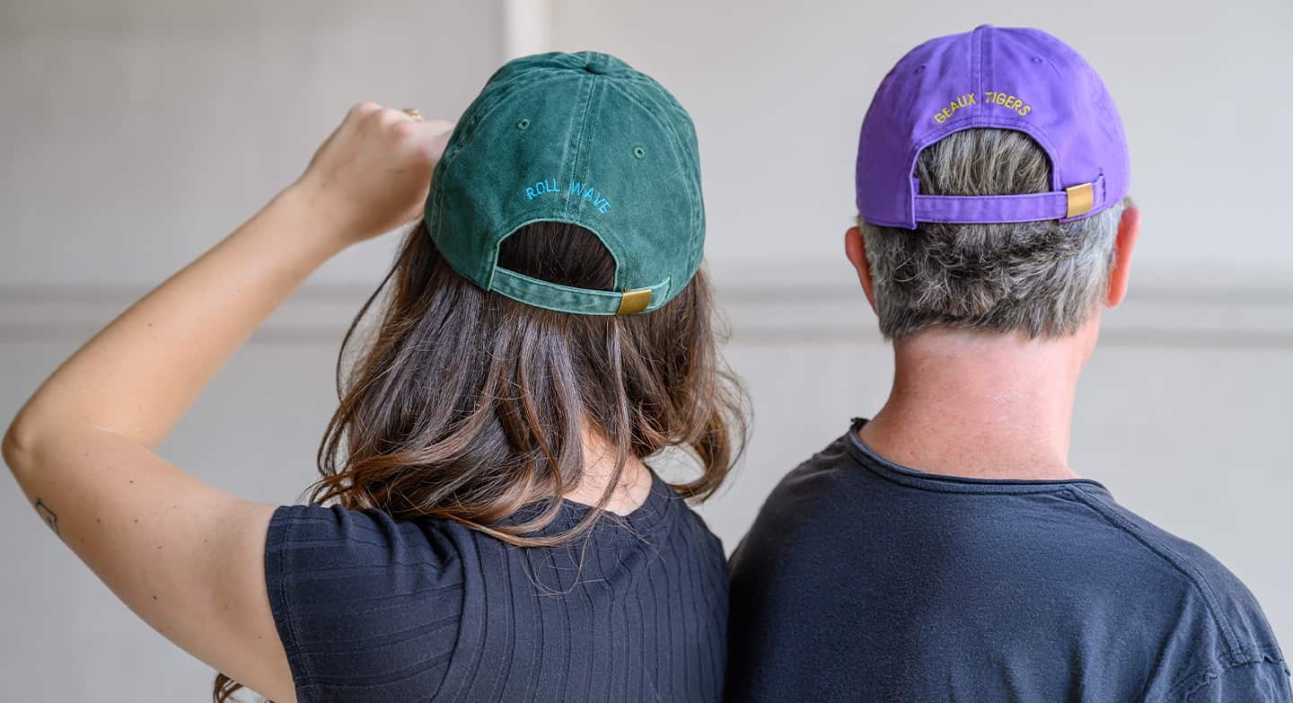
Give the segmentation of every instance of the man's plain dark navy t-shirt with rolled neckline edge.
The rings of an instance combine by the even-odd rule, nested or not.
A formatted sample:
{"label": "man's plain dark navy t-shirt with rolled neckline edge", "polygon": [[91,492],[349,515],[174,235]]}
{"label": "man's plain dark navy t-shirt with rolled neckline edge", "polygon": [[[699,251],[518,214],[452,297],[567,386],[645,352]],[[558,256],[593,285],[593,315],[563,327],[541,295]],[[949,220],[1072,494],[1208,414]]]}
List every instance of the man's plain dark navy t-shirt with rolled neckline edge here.
{"label": "man's plain dark navy t-shirt with rolled neckline edge", "polygon": [[732,557],[729,702],[1290,702],[1252,593],[1095,481],[956,478],[848,434]]}

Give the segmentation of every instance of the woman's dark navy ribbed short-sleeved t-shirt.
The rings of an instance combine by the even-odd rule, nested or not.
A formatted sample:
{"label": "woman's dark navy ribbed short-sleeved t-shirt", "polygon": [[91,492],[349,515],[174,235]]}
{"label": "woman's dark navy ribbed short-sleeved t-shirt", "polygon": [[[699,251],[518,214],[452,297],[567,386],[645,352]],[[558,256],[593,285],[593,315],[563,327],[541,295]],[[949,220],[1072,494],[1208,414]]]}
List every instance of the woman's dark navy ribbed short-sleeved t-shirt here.
{"label": "woman's dark navy ribbed short-sleeved t-shirt", "polygon": [[[588,509],[564,501],[540,534]],[[721,697],[723,547],[654,474],[636,510],[552,548],[434,518],[283,507],[265,579],[301,703]]]}

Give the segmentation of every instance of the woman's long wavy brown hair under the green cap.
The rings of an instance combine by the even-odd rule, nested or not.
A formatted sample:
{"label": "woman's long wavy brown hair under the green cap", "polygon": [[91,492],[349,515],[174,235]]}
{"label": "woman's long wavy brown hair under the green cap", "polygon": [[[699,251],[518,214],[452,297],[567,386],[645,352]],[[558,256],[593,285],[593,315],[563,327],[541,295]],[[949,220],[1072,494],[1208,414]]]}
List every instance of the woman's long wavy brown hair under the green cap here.
{"label": "woman's long wavy brown hair under the green cap", "polygon": [[[613,289],[615,261],[591,231],[535,222],[503,240],[502,268]],[[348,368],[361,320],[379,323]],[[743,446],[747,401],[719,355],[703,269],[670,302],[628,317],[574,315],[480,289],[422,226],[350,323],[337,358],[340,404],[319,445],[310,501],[451,519],[521,547],[587,530],[630,459],[665,450],[698,474],[674,483],[703,500]],[[537,536],[583,477],[584,429],[615,448],[601,500],[570,530]],[[499,523],[544,501],[524,523]],[[216,678],[222,703],[240,686]]]}

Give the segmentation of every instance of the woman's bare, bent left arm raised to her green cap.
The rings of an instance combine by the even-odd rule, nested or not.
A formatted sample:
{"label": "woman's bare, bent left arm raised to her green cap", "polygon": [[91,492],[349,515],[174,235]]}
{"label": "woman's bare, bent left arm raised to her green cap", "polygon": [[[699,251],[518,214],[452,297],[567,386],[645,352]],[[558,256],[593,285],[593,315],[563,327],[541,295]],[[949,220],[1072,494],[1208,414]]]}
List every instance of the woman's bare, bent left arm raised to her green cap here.
{"label": "woman's bare, bent left arm raised to her green cap", "polygon": [[[30,503],[103,583],[171,641],[279,702],[295,693],[264,580],[274,507],[154,450],[314,269],[419,216],[447,127],[352,109],[295,184],[69,358],[4,437]],[[229,460],[247,460],[231,445]]]}

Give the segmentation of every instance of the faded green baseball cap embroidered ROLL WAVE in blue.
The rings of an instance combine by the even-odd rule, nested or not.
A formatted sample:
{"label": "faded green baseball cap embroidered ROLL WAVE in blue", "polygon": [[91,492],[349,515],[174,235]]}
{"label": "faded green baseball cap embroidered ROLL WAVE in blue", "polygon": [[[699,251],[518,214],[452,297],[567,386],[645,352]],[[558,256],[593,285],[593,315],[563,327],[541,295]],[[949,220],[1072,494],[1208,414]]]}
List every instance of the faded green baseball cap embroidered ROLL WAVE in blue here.
{"label": "faded green baseball cap embroidered ROLL WAVE in blue", "polygon": [[[614,289],[499,268],[503,239],[540,221],[596,234],[615,260]],[[486,291],[564,313],[654,310],[692,279],[705,246],[692,118],[613,56],[511,61],[458,120],[436,165],[425,227],[450,266]]]}

